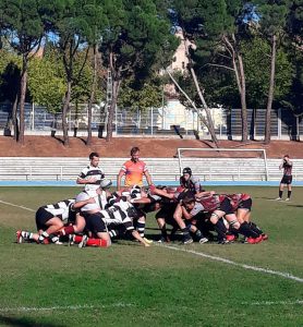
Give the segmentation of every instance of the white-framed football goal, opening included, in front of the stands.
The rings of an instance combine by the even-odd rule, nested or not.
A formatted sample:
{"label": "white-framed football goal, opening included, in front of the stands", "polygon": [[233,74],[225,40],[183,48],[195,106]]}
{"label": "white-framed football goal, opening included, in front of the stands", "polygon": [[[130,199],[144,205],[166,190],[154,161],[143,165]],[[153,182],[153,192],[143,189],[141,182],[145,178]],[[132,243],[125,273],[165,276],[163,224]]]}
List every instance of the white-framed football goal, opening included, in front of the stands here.
{"label": "white-framed football goal, opening included, in front of the stands", "polygon": [[[204,180],[218,178],[232,180],[269,180],[266,150],[263,148],[178,148],[180,174],[184,167],[193,166],[193,173]],[[203,167],[205,167],[203,171]],[[254,177],[255,174],[255,177]],[[215,178],[215,179],[214,179]],[[244,180],[245,180],[244,179]]]}

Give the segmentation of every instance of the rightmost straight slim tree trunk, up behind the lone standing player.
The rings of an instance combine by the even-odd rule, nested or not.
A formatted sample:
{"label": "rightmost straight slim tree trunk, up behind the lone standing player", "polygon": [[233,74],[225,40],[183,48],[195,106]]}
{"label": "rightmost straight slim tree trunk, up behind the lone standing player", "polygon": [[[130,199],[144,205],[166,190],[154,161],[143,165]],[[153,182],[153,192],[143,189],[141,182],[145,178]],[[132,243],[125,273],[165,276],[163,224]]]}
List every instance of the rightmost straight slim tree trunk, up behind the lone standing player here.
{"label": "rightmost straight slim tree trunk, up behind the lone standing player", "polygon": [[266,119],[265,119],[265,140],[264,140],[265,144],[270,143],[270,116],[271,116],[271,106],[272,106],[274,92],[275,92],[275,71],[276,71],[276,51],[277,51],[276,46],[277,46],[277,36],[272,35],[271,57],[270,57],[270,81],[269,81]]}

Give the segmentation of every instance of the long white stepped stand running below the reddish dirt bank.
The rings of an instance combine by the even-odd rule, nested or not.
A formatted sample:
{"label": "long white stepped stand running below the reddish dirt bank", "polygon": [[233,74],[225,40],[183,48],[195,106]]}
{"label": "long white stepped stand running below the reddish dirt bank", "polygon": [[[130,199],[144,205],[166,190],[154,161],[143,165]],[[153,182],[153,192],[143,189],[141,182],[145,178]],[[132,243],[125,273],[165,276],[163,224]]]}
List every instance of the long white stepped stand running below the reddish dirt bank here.
{"label": "long white stepped stand running below the reddish dirt bank", "polygon": [[[116,181],[121,165],[128,158],[101,158],[100,167],[106,175]],[[143,158],[153,180],[179,181],[180,167],[177,158]],[[267,159],[268,180],[278,181],[280,159]],[[2,157],[0,180],[75,180],[87,158],[68,157]],[[192,168],[201,181],[265,181],[264,160],[258,158],[186,158],[182,165]],[[293,180],[303,181],[303,159],[293,159]]]}

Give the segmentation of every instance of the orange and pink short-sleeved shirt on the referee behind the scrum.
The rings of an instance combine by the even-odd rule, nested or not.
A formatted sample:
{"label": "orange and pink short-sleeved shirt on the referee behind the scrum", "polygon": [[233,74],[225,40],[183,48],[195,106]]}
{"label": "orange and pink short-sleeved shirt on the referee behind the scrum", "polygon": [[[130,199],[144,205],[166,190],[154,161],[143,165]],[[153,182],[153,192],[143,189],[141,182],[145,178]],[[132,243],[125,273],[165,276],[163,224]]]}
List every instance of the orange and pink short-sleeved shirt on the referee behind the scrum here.
{"label": "orange and pink short-sleeved shirt on the referee behind the scrum", "polygon": [[146,164],[142,160],[134,162],[128,160],[121,168],[125,172],[125,186],[143,185],[143,174],[147,171]]}

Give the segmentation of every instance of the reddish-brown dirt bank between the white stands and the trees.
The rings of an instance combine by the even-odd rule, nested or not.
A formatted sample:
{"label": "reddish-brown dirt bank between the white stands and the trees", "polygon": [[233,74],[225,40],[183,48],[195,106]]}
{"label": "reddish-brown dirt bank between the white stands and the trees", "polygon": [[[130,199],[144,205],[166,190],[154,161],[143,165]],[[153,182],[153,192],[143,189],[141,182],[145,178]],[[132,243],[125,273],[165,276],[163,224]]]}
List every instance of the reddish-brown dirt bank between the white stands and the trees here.
{"label": "reddish-brown dirt bank between the white stands and the trees", "polygon": [[[269,145],[263,142],[220,141],[220,147],[226,148],[265,148],[269,158],[280,158],[288,154],[291,158],[303,158],[301,142],[271,141]],[[129,157],[130,149],[138,146],[142,157],[166,158],[173,157],[178,147],[209,148],[214,144],[209,141],[181,138],[131,138],[116,137],[107,143],[104,138],[93,137],[88,147],[84,140],[70,138],[70,146],[65,147],[60,138],[51,136],[25,136],[25,144],[21,146],[12,137],[0,136],[1,157],[87,157],[92,152],[98,152],[101,157]],[[243,154],[243,153],[241,153]],[[207,153],[209,156],[209,153]],[[228,154],[225,154],[228,156]],[[247,156],[251,156],[247,154]]]}

